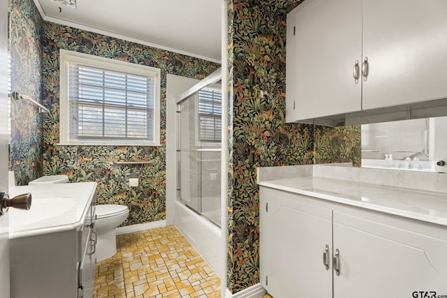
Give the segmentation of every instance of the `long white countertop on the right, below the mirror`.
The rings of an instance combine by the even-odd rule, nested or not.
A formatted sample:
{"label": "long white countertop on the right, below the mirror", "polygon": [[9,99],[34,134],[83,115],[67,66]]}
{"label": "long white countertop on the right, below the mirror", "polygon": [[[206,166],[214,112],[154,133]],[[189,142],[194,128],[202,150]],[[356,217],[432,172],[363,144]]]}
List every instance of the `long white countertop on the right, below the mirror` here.
{"label": "long white countertop on the right, below the mirror", "polygon": [[[258,184],[281,191],[308,195],[429,223],[447,225],[447,191],[444,189],[439,190],[435,186],[432,189],[405,187],[402,186],[402,183],[396,183],[397,186],[384,185],[380,184],[380,181],[378,183],[378,181],[372,179],[374,174],[391,177],[391,180],[393,180],[393,176],[397,177],[395,179],[408,178],[402,177],[402,173],[397,171],[376,170],[379,172],[374,172],[374,169],[356,169],[353,167],[336,169],[336,167],[330,165],[318,165],[318,170],[312,168],[312,165],[305,167],[307,167],[305,172],[297,172],[298,177],[289,175],[288,177],[292,178],[281,177],[280,179],[270,180],[265,177],[267,179],[261,179]],[[272,167],[269,169],[271,170]],[[437,179],[439,182],[447,178],[447,174],[438,175],[442,176],[439,176],[439,178],[432,174],[430,177]],[[361,177],[369,177],[372,183],[361,181]],[[426,178],[425,176],[420,179]],[[415,177],[413,176],[411,179],[415,179]]]}

